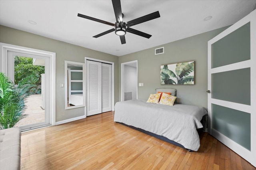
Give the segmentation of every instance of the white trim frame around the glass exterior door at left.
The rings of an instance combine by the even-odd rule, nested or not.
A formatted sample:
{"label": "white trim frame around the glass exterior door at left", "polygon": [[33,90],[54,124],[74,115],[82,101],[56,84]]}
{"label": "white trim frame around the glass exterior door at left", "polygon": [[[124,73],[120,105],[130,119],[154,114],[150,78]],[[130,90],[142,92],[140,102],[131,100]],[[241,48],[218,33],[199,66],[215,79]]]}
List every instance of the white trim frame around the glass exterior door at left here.
{"label": "white trim frame around the glass exterior door at left", "polygon": [[15,51],[20,53],[28,53],[32,55],[41,55],[48,57],[50,61],[50,124],[56,123],[56,53],[44,51],[40,49],[22,47],[7,43],[0,43],[0,72],[7,73],[7,54],[8,51]]}

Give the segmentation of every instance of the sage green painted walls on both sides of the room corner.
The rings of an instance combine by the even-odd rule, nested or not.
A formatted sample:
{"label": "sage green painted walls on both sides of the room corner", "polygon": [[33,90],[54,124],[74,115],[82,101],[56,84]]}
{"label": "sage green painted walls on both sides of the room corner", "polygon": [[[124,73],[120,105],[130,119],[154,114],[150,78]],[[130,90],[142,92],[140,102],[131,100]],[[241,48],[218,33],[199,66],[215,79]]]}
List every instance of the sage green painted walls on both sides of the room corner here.
{"label": "sage green painted walls on both sides of the room corner", "polygon": [[[119,58],[5,26],[0,26],[0,42],[56,53],[56,121],[62,121],[84,115],[83,107],[64,109],[64,88],[60,87],[60,83],[64,83],[64,60],[84,63],[85,56],[114,62],[115,103],[119,101],[121,91],[119,65],[138,60],[138,83],[144,83],[143,87],[138,87],[138,99],[148,99],[149,94],[154,93],[156,88],[175,88],[177,89],[178,103],[200,105],[207,108],[207,42],[226,28],[228,27],[123,55]],[[164,54],[154,55],[154,49],[158,47],[164,47]],[[195,61],[195,85],[160,85],[160,65],[182,61]]]}

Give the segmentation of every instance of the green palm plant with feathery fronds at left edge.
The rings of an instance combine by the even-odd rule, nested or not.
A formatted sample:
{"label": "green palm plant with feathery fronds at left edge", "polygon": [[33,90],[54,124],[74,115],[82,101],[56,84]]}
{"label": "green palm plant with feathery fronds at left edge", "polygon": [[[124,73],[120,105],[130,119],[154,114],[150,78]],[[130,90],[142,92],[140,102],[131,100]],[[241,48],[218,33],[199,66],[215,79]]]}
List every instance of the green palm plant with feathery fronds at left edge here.
{"label": "green palm plant with feathery fronds at left edge", "polygon": [[23,114],[25,99],[30,95],[31,77],[22,79],[18,85],[9,77],[0,72],[0,129],[12,128],[20,119],[26,117]]}

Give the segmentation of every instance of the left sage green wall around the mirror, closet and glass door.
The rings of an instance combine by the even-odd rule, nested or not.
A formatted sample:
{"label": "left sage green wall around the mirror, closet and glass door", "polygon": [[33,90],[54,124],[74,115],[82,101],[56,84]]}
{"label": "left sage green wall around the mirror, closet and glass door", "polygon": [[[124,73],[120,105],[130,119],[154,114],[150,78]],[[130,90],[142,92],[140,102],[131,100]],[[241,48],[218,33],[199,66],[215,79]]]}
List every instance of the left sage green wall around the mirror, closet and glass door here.
{"label": "left sage green wall around the mirror, closet and glass door", "polygon": [[84,57],[91,57],[114,62],[115,102],[118,101],[117,56],[5,26],[0,26],[0,42],[56,53],[56,122],[84,115],[84,107],[65,110],[64,88],[60,87],[60,83],[64,83],[64,60],[84,63]]}

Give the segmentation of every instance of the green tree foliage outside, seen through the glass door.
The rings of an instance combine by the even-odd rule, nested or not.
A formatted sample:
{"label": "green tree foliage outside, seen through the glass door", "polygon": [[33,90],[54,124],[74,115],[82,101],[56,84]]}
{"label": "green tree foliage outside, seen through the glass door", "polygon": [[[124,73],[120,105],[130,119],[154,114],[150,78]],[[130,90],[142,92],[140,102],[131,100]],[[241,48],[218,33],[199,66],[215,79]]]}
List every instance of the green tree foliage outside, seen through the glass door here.
{"label": "green tree foliage outside, seen through the glass door", "polygon": [[33,58],[15,56],[14,58],[14,83],[25,77],[30,76],[30,82],[33,87],[30,89],[31,93],[41,93],[38,85],[41,85],[41,74],[44,73],[44,66],[33,65]]}

